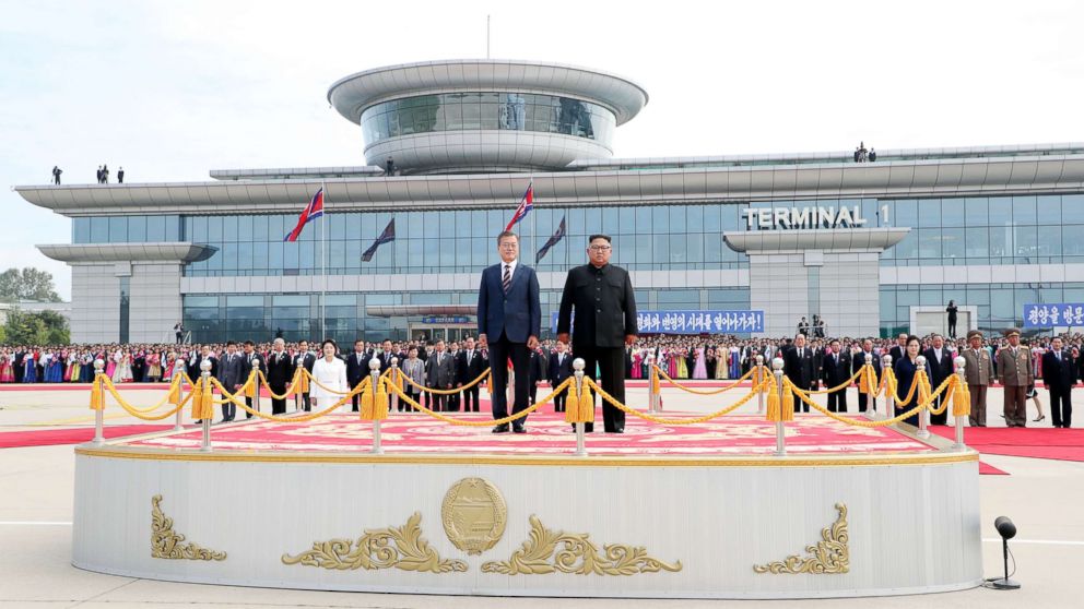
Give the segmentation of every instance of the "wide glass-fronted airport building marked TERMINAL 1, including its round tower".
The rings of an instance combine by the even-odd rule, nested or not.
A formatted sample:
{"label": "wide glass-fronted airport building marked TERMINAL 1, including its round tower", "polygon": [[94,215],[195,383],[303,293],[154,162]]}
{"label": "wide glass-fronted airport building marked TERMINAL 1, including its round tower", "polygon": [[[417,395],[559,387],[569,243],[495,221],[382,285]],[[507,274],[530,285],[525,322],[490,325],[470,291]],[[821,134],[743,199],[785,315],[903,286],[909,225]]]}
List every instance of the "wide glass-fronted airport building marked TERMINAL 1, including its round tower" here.
{"label": "wide glass-fronted airport building marked TERMINAL 1, including its round tower", "polygon": [[[943,332],[950,300],[961,334],[994,332],[1025,303],[1084,302],[1084,144],[620,158],[613,132],[644,87],[529,61],[379,68],[328,100],[364,164],[16,187],[72,219],[70,243],[38,246],[72,267],[72,339],[173,341],[178,321],[197,343],[459,338],[528,184],[517,231],[544,326],[593,232],[613,237],[639,309],[763,312],[744,335],[814,314],[836,336]],[[320,188],[325,217],[284,242]]]}

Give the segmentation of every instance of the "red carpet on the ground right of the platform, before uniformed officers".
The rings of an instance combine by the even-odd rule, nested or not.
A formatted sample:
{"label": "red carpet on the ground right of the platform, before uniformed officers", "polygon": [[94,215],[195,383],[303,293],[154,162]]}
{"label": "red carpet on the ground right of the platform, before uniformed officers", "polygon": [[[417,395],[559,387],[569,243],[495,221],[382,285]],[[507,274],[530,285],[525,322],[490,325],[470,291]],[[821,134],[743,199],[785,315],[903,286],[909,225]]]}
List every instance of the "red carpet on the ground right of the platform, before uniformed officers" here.
{"label": "red carpet on the ground right of the platform, before uniformed officers", "polygon": [[[930,431],[950,439],[956,433],[941,426]],[[1084,462],[1084,429],[967,427],[964,443],[989,455]]]}

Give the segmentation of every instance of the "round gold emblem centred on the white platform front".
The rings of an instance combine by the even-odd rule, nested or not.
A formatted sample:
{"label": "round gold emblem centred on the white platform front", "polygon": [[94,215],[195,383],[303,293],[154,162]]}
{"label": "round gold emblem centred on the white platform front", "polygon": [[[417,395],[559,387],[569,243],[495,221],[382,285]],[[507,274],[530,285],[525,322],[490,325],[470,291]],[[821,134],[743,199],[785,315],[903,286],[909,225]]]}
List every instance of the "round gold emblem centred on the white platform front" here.
{"label": "round gold emblem centred on the white platform front", "polygon": [[440,520],[453,546],[468,554],[481,554],[505,534],[508,506],[487,480],[463,478],[444,495]]}

